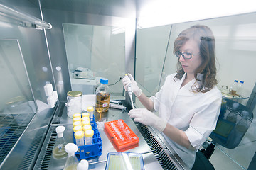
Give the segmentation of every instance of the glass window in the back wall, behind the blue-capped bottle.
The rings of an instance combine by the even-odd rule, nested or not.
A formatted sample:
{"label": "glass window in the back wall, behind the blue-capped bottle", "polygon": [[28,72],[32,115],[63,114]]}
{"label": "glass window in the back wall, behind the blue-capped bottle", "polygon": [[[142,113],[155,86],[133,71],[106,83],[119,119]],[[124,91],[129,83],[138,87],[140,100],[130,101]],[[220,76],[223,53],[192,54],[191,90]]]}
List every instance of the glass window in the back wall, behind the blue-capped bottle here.
{"label": "glass window in the back wall, behind the blue-capped bottle", "polygon": [[122,94],[124,28],[63,23],[63,33],[72,89],[95,94],[104,77],[112,95]]}

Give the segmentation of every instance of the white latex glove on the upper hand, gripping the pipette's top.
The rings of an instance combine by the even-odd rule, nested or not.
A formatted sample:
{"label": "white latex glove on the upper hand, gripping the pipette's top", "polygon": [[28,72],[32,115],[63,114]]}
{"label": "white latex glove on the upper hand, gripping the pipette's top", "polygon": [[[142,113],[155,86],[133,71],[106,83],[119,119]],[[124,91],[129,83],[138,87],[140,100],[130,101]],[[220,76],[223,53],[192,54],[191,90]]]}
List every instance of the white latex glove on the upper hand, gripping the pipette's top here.
{"label": "white latex glove on the upper hand, gripping the pipette's top", "polygon": [[134,80],[131,74],[128,73],[127,76],[122,79],[122,83],[125,91],[128,91],[128,86],[131,84],[132,92],[135,94],[135,96],[139,97],[142,94],[142,90],[139,89],[137,82]]}

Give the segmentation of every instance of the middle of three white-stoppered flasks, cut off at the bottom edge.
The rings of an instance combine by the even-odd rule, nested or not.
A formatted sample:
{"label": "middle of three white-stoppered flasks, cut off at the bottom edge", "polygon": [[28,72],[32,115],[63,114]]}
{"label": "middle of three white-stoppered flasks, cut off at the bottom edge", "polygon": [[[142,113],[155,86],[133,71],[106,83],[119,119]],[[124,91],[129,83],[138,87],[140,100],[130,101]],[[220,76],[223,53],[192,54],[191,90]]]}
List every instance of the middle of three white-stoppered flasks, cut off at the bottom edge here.
{"label": "middle of three white-stoppered flasks, cut off at the bottom edge", "polygon": [[65,145],[65,151],[68,153],[68,159],[65,162],[64,170],[76,170],[79,162],[77,157],[75,157],[75,152],[78,151],[78,146],[68,143]]}

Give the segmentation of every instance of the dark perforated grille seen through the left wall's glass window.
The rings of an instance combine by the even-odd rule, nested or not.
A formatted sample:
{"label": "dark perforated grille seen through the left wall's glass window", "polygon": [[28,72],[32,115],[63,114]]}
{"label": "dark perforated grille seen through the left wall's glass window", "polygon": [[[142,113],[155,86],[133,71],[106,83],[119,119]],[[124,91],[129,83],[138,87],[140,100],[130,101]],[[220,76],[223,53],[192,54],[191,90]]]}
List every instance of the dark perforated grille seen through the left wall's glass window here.
{"label": "dark perforated grille seen through the left wall's glass window", "polygon": [[33,113],[9,113],[0,115],[0,164],[14,147],[18,138],[32,120]]}

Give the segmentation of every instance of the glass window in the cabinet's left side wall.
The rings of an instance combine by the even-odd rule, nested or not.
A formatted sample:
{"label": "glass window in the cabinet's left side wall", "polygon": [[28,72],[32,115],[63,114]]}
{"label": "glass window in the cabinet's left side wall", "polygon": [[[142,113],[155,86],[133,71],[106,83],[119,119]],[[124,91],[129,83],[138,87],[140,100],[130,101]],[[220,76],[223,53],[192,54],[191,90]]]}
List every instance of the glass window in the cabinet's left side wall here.
{"label": "glass window in the cabinet's left side wall", "polygon": [[0,164],[36,113],[18,40],[0,39]]}

